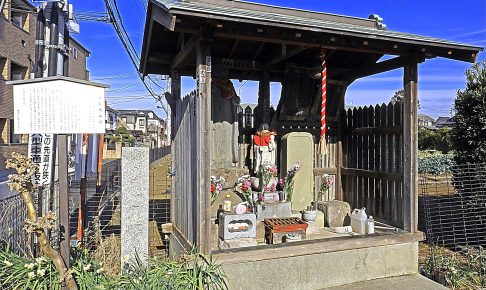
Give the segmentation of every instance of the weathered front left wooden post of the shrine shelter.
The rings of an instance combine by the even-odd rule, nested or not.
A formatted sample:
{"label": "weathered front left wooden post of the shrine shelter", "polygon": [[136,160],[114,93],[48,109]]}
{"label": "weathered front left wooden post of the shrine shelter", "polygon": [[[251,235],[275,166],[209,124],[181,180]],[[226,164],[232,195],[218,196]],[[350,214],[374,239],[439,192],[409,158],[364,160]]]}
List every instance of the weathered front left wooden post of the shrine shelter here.
{"label": "weathered front left wooden post of the shrine shelter", "polygon": [[196,138],[197,138],[197,221],[196,243],[203,253],[211,249],[211,53],[209,42],[202,39],[197,46],[197,95],[196,95]]}

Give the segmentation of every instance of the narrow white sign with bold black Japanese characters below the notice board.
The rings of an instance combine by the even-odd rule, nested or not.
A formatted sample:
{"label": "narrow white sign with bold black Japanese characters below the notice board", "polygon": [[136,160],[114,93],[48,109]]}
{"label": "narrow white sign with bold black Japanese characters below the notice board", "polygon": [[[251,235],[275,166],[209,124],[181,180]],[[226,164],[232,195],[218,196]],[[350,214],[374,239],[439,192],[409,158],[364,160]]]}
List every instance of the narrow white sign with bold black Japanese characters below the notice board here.
{"label": "narrow white sign with bold black Japanese characters below the notice board", "polygon": [[29,135],[29,158],[39,168],[34,176],[37,185],[51,183],[54,137],[53,134]]}

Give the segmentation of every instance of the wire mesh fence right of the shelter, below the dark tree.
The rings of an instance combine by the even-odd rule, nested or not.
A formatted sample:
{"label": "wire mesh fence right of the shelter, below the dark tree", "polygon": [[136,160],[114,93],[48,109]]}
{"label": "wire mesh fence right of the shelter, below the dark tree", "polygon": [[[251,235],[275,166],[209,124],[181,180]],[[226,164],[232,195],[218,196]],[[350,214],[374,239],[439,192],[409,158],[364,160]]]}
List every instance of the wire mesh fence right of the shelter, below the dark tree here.
{"label": "wire mesh fence right of the shelter, below the dark tree", "polygon": [[486,164],[420,176],[423,272],[447,286],[486,286]]}

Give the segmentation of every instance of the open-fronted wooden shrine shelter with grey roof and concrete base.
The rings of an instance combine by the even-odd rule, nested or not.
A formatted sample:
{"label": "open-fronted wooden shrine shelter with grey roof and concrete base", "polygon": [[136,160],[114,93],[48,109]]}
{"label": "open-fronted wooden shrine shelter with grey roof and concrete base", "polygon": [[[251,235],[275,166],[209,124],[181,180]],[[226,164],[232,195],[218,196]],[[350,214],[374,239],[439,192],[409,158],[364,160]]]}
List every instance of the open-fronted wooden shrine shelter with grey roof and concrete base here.
{"label": "open-fronted wooden shrine shelter with grey roof and concrete base", "polygon": [[[269,123],[280,136],[310,132],[317,146],[321,108],[320,80],[315,76],[324,57],[332,161],[315,158],[315,182],[323,173],[335,175],[335,199],[350,203],[351,208],[366,206],[370,214],[401,231],[221,251],[218,256],[228,263],[245,261],[251,269],[272,258],[324,253],[328,258],[323,259],[336,253],[355,257],[360,254],[352,251],[386,247],[386,252],[375,253],[378,264],[386,260],[392,265],[394,261],[385,256],[393,256],[405,257],[400,263],[408,266],[390,266],[394,270],[389,267],[385,274],[367,274],[366,279],[416,272],[417,241],[422,239],[417,229],[418,64],[436,57],[474,62],[480,51],[482,48],[467,44],[386,30],[379,17],[362,19],[230,0],[149,1],[140,71],[171,79],[172,91],[166,94],[172,109],[175,172],[171,247],[198,246],[204,252],[212,251],[209,192],[217,156],[211,126],[218,116],[211,113],[211,82],[216,67],[223,67],[229,79],[259,81],[256,124]],[[404,72],[402,104],[346,110],[350,84],[395,69]],[[196,90],[185,97],[180,93],[181,76],[197,81]],[[282,84],[275,111],[270,108],[270,82]],[[245,143],[244,136],[238,142]],[[246,165],[234,160],[232,166],[243,169]],[[241,265],[239,269],[243,269]],[[226,270],[238,280],[231,269]],[[350,277],[329,285],[365,279]],[[299,279],[295,283],[311,288]],[[321,275],[319,279],[327,278]]]}

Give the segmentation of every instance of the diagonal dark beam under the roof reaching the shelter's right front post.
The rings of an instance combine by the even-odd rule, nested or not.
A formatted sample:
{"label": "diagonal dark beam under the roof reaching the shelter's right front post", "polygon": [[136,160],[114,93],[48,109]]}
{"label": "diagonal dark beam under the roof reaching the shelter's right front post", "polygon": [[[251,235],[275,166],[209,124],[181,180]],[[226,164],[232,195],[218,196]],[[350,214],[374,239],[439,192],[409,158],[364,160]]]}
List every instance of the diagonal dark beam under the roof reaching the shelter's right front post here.
{"label": "diagonal dark beam under the roof reaching the shelter's right front post", "polygon": [[355,80],[379,73],[383,73],[386,71],[402,68],[407,64],[413,63],[415,58],[410,56],[400,56],[396,58],[392,58],[389,60],[385,60],[382,62],[377,62],[373,65],[365,66],[361,69],[355,69],[348,73],[334,75],[331,71],[330,74],[333,78],[343,79],[343,80]]}

